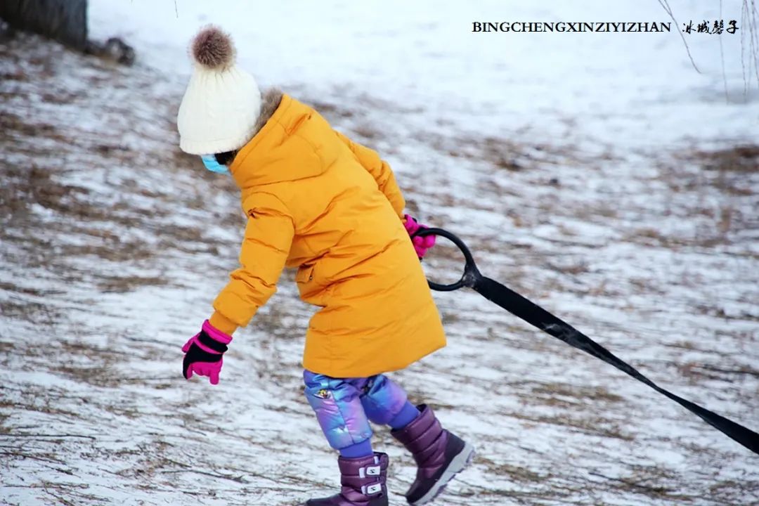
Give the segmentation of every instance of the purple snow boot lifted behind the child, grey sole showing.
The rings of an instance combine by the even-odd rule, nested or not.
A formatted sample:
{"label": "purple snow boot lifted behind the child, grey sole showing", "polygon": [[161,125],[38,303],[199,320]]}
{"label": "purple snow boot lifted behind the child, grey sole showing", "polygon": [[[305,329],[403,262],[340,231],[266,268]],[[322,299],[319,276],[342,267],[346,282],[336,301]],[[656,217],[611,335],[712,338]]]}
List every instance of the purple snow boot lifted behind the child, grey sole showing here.
{"label": "purple snow boot lifted behind the child, grey sole showing", "polygon": [[417,462],[417,479],[406,492],[406,501],[414,506],[433,501],[474,457],[474,448],[443,429],[430,407],[420,404],[417,409],[413,422],[390,432]]}

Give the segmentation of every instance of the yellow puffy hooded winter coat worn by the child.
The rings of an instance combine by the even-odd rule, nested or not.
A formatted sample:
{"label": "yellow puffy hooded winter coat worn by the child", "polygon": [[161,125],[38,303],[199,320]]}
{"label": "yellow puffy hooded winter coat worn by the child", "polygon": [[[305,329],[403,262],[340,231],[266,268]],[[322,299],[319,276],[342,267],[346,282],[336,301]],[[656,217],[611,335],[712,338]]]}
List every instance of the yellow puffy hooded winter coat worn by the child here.
{"label": "yellow puffy hooded winter coat worn by the child", "polygon": [[349,378],[402,369],[446,338],[386,162],[285,95],[230,167],[248,216],[241,268],[213,303],[231,333],[297,267],[301,299],[320,306],[303,366]]}

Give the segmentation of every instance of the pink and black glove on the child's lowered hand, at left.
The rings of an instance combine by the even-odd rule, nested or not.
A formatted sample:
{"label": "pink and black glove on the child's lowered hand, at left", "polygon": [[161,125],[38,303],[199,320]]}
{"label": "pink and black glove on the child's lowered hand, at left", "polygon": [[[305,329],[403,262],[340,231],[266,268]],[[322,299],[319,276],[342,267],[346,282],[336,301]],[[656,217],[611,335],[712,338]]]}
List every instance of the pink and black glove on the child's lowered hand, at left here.
{"label": "pink and black glove on the child's lowered hand, at left", "polygon": [[200,376],[208,376],[211,385],[219,385],[219,372],[222,372],[222,355],[227,350],[227,344],[232,340],[231,335],[218,330],[208,320],[190,341],[184,343],[184,362],[182,374],[185,379],[191,379],[193,372]]}

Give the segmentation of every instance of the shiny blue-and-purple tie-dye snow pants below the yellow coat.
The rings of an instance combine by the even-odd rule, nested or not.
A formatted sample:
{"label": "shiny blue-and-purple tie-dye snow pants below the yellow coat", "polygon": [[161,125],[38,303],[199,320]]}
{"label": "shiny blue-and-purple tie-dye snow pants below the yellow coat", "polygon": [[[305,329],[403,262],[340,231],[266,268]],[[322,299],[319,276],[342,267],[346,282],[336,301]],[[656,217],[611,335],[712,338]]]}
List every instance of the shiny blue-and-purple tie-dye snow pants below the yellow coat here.
{"label": "shiny blue-and-purple tie-dye snow pants below the yellow coat", "polygon": [[372,437],[369,421],[387,425],[406,404],[406,392],[383,374],[331,378],[303,372],[308,402],[332,448],[340,450]]}

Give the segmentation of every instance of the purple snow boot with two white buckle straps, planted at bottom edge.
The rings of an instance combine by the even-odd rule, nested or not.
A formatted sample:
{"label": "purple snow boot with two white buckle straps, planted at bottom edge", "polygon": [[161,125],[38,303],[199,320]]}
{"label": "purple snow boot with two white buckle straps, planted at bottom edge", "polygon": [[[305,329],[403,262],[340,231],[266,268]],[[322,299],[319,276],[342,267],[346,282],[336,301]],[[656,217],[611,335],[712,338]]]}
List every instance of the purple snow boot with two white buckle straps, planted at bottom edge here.
{"label": "purple snow boot with two white buckle straps, planted at bottom edge", "polygon": [[310,499],[306,506],[387,506],[387,454],[370,457],[339,457],[340,493]]}

